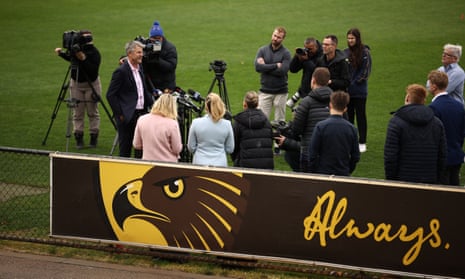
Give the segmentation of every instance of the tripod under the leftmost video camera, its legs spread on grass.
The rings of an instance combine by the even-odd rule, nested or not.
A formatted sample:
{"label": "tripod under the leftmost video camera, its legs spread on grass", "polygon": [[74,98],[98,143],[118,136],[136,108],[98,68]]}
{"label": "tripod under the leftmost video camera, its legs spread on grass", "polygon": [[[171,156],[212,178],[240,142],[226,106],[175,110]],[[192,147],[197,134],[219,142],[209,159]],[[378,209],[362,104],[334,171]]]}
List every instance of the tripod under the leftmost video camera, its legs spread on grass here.
{"label": "tripod under the leftmost video camera, its legs spread on grass", "polygon": [[[71,81],[71,77],[70,77],[70,72],[72,70],[78,70],[78,66],[75,64],[75,63],[71,63],[68,67],[68,70],[65,74],[65,78],[63,80],[63,83],[61,85],[61,89],[60,89],[60,92],[58,94],[58,98],[57,98],[57,102],[55,103],[55,107],[53,109],[53,112],[52,112],[52,116],[51,116],[51,120],[50,120],[50,124],[48,126],[48,129],[47,129],[47,133],[45,134],[45,137],[42,141],[42,145],[45,145],[46,142],[47,142],[47,138],[48,138],[48,135],[50,134],[50,130],[52,129],[52,125],[53,125],[53,122],[55,121],[55,118],[58,114],[58,110],[60,109],[60,106],[61,106],[61,103],[62,102],[66,102],[67,104],[67,107],[69,109],[68,111],[68,125],[67,125],[67,128],[66,128],[66,152],[68,152],[68,147],[69,147],[69,138],[71,137],[71,127],[72,127],[72,110],[81,102],[83,101],[80,101],[80,100],[76,100],[74,98],[67,98],[66,99],[66,93],[70,87],[70,81]],[[79,72],[79,71],[78,71]],[[85,74],[85,73],[84,73]],[[95,101],[95,102],[100,102],[102,104],[102,107],[103,109],[105,110],[108,118],[110,119],[110,122],[111,124],[113,124],[113,127],[116,129],[116,123],[115,121],[113,120],[113,118],[111,117],[111,114],[110,112],[108,111],[107,107],[105,106],[105,104],[102,102],[102,99],[100,97],[100,95],[97,94],[97,92],[95,91],[94,87],[92,86],[92,83],[90,82],[89,78],[87,77],[87,75],[85,74],[85,77],[86,77],[86,80],[87,82],[89,83],[91,89],[92,89],[92,99]],[[77,80],[77,77],[76,77],[76,80]]]}

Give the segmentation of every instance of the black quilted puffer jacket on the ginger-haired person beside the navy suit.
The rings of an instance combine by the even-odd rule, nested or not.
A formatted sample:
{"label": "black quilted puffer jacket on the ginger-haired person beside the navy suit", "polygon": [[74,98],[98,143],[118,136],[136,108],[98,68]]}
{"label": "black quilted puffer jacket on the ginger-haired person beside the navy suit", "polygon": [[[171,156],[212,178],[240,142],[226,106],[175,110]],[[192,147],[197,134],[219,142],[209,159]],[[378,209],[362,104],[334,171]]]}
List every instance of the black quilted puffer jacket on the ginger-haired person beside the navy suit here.
{"label": "black quilted puffer jacket on the ginger-haired person beside the navy suit", "polygon": [[389,121],[384,145],[386,179],[438,183],[446,154],[444,126],[431,108],[405,105]]}

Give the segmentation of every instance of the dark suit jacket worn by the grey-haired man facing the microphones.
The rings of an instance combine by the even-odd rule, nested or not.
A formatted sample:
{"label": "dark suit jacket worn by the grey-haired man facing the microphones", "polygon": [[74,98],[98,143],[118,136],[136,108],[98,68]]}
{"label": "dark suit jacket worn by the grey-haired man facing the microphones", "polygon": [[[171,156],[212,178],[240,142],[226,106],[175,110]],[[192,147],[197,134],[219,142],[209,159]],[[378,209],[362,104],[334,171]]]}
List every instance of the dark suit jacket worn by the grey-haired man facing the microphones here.
{"label": "dark suit jacket worn by the grey-haired man facing the microphones", "polygon": [[[142,81],[144,75],[142,69],[139,69]],[[111,77],[111,82],[107,91],[107,100],[113,110],[113,116],[117,122],[120,122],[120,116],[123,115],[123,122],[128,123],[134,111],[136,110],[137,103],[137,86],[131,67],[125,61],[119,66]],[[150,93],[146,90],[144,84],[144,110],[149,110],[153,105],[153,99]]]}

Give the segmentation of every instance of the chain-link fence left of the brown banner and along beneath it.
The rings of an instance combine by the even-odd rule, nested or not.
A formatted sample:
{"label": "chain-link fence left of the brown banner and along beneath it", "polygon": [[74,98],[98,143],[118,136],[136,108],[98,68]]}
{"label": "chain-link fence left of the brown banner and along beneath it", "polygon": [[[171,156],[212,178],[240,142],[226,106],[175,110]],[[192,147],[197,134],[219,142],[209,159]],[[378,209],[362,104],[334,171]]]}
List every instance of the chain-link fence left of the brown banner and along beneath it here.
{"label": "chain-link fence left of the brown banner and along beneath it", "polygon": [[[329,278],[360,278],[357,271],[335,270],[305,264],[234,260],[202,254],[170,253],[144,247],[106,245],[83,240],[63,240],[50,233],[50,151],[0,146],[0,240],[36,242],[110,253],[127,253],[175,260],[199,261],[237,267],[311,273]],[[327,278],[327,277],[325,277]],[[374,278],[366,274],[366,278]]]}

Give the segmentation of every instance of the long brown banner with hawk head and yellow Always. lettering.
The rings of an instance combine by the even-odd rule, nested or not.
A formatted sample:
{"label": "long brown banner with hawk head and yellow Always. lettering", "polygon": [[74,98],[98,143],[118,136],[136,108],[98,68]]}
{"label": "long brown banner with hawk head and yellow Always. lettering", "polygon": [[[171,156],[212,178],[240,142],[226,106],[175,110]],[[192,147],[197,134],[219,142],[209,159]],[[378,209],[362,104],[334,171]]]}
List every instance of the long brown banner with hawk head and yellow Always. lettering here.
{"label": "long brown banner with hawk head and yellow Always. lettering", "polygon": [[465,277],[465,190],[52,155],[51,234]]}

